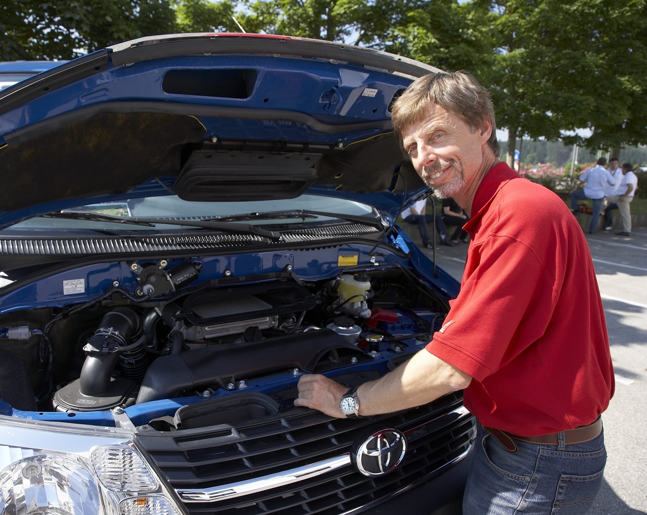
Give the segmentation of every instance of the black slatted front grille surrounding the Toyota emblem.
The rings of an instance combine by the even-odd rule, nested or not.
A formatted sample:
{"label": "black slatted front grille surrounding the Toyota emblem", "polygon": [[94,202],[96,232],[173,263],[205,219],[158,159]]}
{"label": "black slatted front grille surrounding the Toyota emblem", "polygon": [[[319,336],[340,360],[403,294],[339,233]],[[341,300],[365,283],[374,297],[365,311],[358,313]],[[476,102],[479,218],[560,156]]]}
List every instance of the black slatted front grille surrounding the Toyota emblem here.
{"label": "black slatted front grille surrounding the Toyota emblem", "polygon": [[[366,477],[355,463],[321,476],[214,502],[187,502],[192,515],[340,514],[393,494],[461,457],[474,437],[475,419],[462,392],[398,414],[330,419],[296,410],[270,421],[155,434],[139,439],[174,489],[210,489],[303,467],[350,452],[378,430],[407,436],[404,461],[385,476]],[[234,509],[236,509],[234,511]]]}

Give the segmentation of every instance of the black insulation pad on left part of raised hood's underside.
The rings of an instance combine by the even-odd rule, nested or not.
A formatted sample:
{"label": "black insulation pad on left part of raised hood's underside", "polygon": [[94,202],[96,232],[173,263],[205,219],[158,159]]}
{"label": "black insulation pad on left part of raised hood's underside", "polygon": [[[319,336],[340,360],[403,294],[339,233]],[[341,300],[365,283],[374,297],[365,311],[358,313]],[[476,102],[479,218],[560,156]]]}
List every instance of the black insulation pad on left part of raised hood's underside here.
{"label": "black insulation pad on left part of raised hood's underside", "polygon": [[[38,124],[40,125],[40,124]],[[62,127],[39,127],[38,137],[7,138],[0,150],[3,211],[65,198],[126,193],[151,177],[175,175],[184,143],[199,142],[204,127],[193,116],[97,114]]]}

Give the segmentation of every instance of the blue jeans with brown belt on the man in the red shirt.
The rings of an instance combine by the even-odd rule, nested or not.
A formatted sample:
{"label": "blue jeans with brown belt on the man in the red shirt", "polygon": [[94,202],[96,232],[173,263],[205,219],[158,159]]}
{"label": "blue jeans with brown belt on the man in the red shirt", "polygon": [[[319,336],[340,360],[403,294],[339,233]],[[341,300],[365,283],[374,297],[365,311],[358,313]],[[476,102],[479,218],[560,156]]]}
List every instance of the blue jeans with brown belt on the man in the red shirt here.
{"label": "blue jeans with brown belt on the man in the red shirt", "polygon": [[586,443],[515,440],[510,452],[478,425],[463,515],[582,515],[602,485],[604,432]]}

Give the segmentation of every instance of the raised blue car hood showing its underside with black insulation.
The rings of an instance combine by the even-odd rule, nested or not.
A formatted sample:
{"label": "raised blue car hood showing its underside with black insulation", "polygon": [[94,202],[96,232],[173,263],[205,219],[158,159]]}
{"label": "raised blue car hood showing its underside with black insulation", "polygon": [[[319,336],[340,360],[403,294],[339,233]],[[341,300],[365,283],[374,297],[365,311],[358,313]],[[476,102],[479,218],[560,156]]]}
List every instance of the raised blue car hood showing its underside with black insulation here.
{"label": "raised blue car hood showing its underside with black insulation", "polygon": [[0,227],[151,190],[209,202],[401,191],[397,171],[419,189],[390,106],[437,72],[258,34],[153,36],[74,59],[0,92]]}

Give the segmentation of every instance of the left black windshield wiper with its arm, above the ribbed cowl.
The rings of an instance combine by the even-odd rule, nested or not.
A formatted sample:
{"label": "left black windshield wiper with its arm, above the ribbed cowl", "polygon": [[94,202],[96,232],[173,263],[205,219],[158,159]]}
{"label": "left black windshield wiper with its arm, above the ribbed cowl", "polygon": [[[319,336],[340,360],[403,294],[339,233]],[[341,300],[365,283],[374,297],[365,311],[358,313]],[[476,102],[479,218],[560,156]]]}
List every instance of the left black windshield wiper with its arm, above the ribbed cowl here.
{"label": "left black windshield wiper with its arm, above the ribbed cowl", "polygon": [[249,224],[232,224],[231,222],[219,222],[210,220],[170,220],[168,218],[124,218],[122,216],[102,215],[100,213],[88,213],[85,211],[55,211],[41,215],[43,218],[67,218],[69,220],[90,220],[92,222],[116,222],[118,224],[133,224],[137,226],[155,227],[156,224],[166,226],[187,226],[199,227],[200,229],[215,229],[223,233],[248,234],[269,238],[272,241],[281,239],[281,233],[267,231]]}

